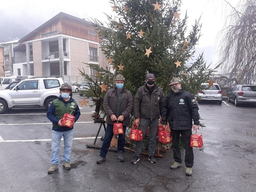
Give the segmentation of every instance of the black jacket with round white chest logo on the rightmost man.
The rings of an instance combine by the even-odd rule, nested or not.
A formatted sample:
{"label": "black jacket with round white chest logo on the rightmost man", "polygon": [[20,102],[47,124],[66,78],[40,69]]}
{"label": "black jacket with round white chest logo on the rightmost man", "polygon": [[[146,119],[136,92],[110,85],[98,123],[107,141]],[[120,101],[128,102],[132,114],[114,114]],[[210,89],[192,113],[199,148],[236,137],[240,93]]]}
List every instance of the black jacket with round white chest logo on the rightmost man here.
{"label": "black jacket with round white chest logo on the rightmost man", "polygon": [[171,91],[165,98],[165,109],[162,123],[170,124],[174,130],[189,130],[194,124],[199,125],[200,115],[195,97],[188,91],[181,89],[179,93]]}

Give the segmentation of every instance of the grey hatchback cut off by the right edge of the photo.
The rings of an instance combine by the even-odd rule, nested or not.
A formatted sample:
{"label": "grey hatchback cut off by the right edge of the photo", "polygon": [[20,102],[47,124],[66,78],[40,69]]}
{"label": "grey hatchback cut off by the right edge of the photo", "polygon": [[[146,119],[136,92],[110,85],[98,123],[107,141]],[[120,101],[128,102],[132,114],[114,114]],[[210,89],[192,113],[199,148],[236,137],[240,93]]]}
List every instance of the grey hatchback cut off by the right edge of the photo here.
{"label": "grey hatchback cut off by the right edge of the photo", "polygon": [[256,85],[235,85],[227,94],[227,102],[256,104]]}

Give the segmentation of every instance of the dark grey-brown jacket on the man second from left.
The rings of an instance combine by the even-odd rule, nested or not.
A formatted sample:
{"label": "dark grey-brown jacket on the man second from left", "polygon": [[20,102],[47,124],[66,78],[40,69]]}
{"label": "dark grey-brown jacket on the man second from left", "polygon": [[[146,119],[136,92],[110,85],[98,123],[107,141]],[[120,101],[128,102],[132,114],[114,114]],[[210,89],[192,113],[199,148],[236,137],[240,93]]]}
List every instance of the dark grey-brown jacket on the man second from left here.
{"label": "dark grey-brown jacket on the man second from left", "polygon": [[[121,102],[120,102],[120,108],[119,112],[124,116],[123,119],[123,126],[127,126],[130,124],[130,114],[133,110],[133,96],[131,91],[128,91],[126,89],[122,89],[122,95],[121,95]],[[116,115],[116,104],[117,104],[117,96],[114,89],[109,89],[106,92],[106,95],[104,97],[103,107],[104,111],[106,112],[106,123],[107,124],[113,124],[115,123],[110,119],[110,115],[114,114]],[[116,117],[118,118],[118,117]]]}

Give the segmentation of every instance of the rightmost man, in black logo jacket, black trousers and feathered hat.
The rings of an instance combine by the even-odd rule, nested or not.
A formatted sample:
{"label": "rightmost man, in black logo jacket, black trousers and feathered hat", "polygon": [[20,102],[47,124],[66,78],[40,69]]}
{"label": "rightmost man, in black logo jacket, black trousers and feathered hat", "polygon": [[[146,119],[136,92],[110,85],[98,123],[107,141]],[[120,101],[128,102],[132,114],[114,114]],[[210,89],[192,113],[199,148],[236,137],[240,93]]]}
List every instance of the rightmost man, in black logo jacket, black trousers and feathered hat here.
{"label": "rightmost man, in black logo jacket, black trousers and feathered hat", "polygon": [[[181,81],[173,77],[170,93],[165,98],[165,110],[162,116],[162,123],[166,127],[167,121],[170,124],[173,139],[173,158],[174,163],[171,169],[181,167],[180,134],[181,141],[185,148],[186,175],[192,175],[194,163],[193,147],[190,147],[190,136],[192,129],[197,132],[199,125],[198,106],[195,97],[181,88]],[[194,121],[194,124],[192,122]]]}

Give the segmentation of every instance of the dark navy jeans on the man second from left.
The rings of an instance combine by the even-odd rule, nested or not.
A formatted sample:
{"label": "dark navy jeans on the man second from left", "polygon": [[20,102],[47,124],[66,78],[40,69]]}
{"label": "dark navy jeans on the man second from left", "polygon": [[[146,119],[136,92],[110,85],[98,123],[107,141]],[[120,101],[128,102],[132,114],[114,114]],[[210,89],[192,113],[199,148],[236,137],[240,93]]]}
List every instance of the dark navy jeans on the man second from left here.
{"label": "dark navy jeans on the man second from left", "polygon": [[[125,131],[126,131],[126,126],[122,126],[123,129],[123,134],[118,134],[118,140],[117,140],[117,151],[124,151],[124,142],[125,142]],[[112,124],[107,124],[106,126],[106,133],[104,136],[103,144],[100,149],[100,156],[101,157],[106,157],[107,154],[107,149],[109,148],[109,145],[111,143],[112,137],[113,137],[113,125]]]}

